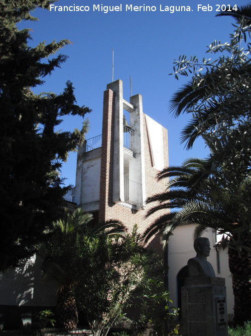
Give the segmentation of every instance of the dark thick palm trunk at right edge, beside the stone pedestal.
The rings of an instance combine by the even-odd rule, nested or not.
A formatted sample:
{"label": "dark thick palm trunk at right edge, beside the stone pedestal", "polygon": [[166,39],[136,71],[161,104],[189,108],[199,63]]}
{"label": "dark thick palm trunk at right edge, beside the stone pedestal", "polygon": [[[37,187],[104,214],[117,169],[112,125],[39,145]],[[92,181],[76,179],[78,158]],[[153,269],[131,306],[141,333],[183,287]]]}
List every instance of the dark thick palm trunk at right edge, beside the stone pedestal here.
{"label": "dark thick palm trunk at right edge, beside the stone pedestal", "polygon": [[235,249],[228,248],[229,270],[232,274],[234,295],[234,325],[243,325],[250,320],[251,307],[251,253],[241,250],[240,257]]}

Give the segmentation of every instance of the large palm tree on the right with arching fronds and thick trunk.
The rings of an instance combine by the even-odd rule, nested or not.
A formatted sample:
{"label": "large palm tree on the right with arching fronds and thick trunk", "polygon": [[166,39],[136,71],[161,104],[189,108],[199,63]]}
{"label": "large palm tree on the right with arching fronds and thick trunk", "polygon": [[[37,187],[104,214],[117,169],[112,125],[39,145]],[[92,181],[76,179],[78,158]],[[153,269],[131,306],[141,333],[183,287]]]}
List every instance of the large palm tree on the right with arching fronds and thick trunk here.
{"label": "large palm tree on the right with arching fronds and thick trunk", "polygon": [[[218,58],[199,62],[196,56],[187,59],[184,55],[175,61],[176,78],[179,74],[188,76],[188,71],[192,74],[191,81],[171,100],[175,117],[182,113],[192,116],[181,132],[181,142],[190,149],[202,136],[211,154],[207,160],[188,160],[159,174],[159,178],[174,178],[168,192],[149,199],[159,200],[149,215],[158,209],[169,212],[146,231],[146,237],[158,229],[170,234],[181,223],[195,223],[196,235],[206,227],[225,233],[235,297],[234,319],[239,324],[247,318],[249,308],[245,304],[250,304],[246,298],[250,297],[251,59],[250,52],[242,48],[246,33],[250,33],[250,8],[249,4],[229,13],[238,22],[230,42],[215,41],[207,50],[221,53]],[[246,48],[250,49],[249,44]]]}

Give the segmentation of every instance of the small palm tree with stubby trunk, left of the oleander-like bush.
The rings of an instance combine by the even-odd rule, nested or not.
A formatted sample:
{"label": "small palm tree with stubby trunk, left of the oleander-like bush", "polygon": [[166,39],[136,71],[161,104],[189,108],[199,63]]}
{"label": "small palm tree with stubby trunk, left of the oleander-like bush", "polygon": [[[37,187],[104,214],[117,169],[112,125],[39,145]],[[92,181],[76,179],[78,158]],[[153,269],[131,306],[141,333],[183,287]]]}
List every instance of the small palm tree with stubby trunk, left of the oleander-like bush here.
{"label": "small palm tree with stubby trunk, left of the oleander-like bush", "polygon": [[43,259],[44,275],[54,278],[59,284],[56,317],[59,326],[68,330],[76,328],[78,313],[74,288],[81,279],[83,270],[81,240],[85,235],[123,236],[124,226],[118,221],[92,223],[92,214],[78,208],[73,214],[66,212],[66,219],[53,223],[48,241],[38,246]]}

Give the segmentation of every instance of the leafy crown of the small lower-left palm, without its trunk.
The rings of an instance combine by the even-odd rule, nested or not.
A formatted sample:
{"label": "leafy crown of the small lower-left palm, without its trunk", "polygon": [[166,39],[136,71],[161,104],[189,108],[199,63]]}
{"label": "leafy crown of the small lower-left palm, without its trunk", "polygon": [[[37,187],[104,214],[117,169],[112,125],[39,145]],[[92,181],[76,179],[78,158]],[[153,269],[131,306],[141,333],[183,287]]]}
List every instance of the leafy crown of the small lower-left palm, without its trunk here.
{"label": "leafy crown of the small lower-left palm, without its trunk", "polygon": [[81,267],[85,270],[89,263],[83,253],[83,244],[91,242],[91,255],[95,253],[95,242],[99,237],[123,236],[124,227],[118,221],[94,224],[92,217],[81,208],[73,214],[66,210],[65,219],[54,222],[52,230],[46,231],[47,241],[37,246],[38,254],[43,259],[44,275],[56,279],[60,290],[72,290],[80,283]]}

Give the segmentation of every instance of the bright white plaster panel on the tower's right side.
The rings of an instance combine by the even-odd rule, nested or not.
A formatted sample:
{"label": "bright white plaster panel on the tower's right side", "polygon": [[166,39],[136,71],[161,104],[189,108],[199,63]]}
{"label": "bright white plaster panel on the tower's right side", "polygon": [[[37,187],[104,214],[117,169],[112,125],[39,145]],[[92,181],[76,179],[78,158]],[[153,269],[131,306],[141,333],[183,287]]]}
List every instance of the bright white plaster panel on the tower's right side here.
{"label": "bright white plaster panel on the tower's right side", "polygon": [[164,168],[164,145],[162,125],[146,115],[153,166],[158,170]]}

